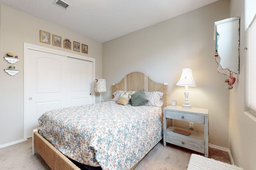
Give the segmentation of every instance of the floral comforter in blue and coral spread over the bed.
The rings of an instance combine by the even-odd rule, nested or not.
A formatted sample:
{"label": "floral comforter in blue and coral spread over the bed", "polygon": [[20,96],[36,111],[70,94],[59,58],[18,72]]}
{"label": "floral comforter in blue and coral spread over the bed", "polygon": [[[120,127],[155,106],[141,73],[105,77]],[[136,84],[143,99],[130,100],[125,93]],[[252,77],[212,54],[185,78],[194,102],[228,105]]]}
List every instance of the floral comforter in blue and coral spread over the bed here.
{"label": "floral comforter in blue and coral spread over the bed", "polygon": [[40,135],[69,158],[103,170],[129,170],[162,139],[162,109],[109,101],[44,113]]}

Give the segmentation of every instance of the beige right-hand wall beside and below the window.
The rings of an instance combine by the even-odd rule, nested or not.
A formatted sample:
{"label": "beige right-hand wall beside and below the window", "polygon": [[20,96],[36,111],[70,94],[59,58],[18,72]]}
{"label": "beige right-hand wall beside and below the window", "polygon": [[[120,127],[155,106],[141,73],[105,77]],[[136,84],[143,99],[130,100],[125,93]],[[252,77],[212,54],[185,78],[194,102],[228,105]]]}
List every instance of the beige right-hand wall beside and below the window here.
{"label": "beige right-hand wall beside and below the window", "polygon": [[240,74],[230,91],[229,148],[234,164],[244,170],[255,170],[256,158],[256,122],[243,112],[246,110],[246,53],[244,0],[230,1],[230,17],[240,16]]}

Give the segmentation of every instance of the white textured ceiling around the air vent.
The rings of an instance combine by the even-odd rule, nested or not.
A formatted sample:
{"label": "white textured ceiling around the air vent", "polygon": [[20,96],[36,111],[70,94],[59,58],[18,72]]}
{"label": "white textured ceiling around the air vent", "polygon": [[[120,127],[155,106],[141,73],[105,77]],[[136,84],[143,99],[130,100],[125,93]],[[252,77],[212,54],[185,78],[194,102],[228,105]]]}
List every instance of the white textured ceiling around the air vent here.
{"label": "white textured ceiling around the air vent", "polygon": [[0,0],[1,4],[100,42],[168,20],[218,0]]}

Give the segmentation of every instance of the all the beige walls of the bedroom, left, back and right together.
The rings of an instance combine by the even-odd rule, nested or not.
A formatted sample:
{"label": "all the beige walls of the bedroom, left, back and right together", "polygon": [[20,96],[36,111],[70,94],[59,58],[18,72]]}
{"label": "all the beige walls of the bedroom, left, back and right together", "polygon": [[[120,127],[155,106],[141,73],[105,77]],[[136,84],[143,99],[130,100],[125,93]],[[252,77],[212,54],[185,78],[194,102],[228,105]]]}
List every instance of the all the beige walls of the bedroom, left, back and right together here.
{"label": "all the beige walls of the bedroom, left, back and right together", "polygon": [[[226,76],[216,70],[213,25],[214,21],[235,16],[241,16],[240,75],[235,75],[237,82],[229,93],[223,82]],[[40,29],[86,43],[89,54],[40,43]],[[189,66],[197,84],[189,88],[190,104],[209,109],[209,142],[229,148],[236,165],[252,170],[256,158],[256,123],[243,113],[246,108],[244,37],[244,0],[231,0],[230,4],[229,0],[220,0],[103,43],[102,62],[102,43],[1,4],[0,145],[23,139],[23,43],[26,42],[95,58],[96,78],[107,79],[108,91],[103,93],[106,100],[111,98],[112,83],[118,83],[129,72],[141,71],[157,82],[168,82],[168,103],[177,100],[182,105],[184,88],[175,84],[182,68]],[[7,52],[18,55],[20,61],[15,64],[5,61]],[[10,65],[20,72],[9,76],[4,69]],[[176,124],[188,126],[182,122]],[[202,129],[199,125],[195,128]]]}

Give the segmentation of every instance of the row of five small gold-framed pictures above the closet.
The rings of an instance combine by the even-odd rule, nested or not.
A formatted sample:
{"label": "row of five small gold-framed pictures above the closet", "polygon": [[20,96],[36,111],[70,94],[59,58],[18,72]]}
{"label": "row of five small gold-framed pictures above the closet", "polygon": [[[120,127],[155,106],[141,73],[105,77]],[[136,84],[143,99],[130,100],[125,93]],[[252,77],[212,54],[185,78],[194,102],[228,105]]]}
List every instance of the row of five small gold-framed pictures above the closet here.
{"label": "row of five small gold-framed pictures above the closet", "polygon": [[[40,30],[40,42],[51,44],[51,33]],[[52,34],[52,45],[62,47],[62,37],[59,35]],[[72,41],[70,39],[63,40],[63,48],[72,49]],[[88,54],[88,45],[81,44],[77,41],[73,41],[73,50]]]}

